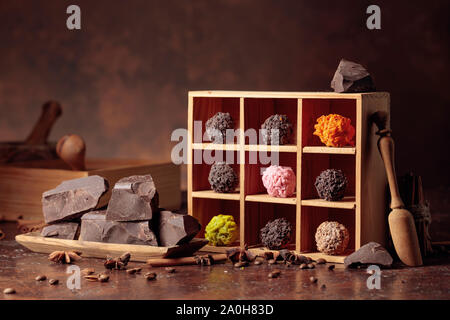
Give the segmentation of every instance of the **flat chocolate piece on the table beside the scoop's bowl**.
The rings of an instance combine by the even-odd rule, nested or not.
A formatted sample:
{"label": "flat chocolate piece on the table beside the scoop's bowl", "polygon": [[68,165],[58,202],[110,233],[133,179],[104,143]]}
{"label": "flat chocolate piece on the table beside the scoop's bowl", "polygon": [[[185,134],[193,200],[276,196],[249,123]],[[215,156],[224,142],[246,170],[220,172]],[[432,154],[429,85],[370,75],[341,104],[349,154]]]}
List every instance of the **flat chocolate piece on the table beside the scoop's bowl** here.
{"label": "flat chocolate piece on the table beside the scoop's bowl", "polygon": [[346,267],[376,264],[382,267],[392,265],[392,257],[379,243],[369,242],[344,259]]}

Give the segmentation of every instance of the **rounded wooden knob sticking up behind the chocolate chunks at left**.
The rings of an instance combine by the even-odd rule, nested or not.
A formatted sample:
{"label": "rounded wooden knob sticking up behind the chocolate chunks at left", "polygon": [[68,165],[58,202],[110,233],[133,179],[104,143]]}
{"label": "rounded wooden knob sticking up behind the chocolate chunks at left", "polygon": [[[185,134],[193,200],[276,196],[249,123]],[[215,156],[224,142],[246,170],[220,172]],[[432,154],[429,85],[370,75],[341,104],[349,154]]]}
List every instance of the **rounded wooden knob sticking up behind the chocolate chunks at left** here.
{"label": "rounded wooden knob sticking up behind the chocolate chunks at left", "polygon": [[56,153],[72,170],[86,171],[86,144],[79,135],[70,134],[59,139]]}

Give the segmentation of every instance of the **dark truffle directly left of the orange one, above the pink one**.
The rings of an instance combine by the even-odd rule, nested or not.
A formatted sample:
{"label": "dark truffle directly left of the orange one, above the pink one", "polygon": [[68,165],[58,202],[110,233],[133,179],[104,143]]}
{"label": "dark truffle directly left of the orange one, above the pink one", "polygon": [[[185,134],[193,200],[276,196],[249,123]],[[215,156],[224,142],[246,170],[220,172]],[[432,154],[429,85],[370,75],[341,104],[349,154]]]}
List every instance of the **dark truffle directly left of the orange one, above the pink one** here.
{"label": "dark truffle directly left of the orange one, above the pink one", "polygon": [[261,126],[264,144],[288,144],[292,135],[292,123],[286,115],[274,114],[264,121]]}

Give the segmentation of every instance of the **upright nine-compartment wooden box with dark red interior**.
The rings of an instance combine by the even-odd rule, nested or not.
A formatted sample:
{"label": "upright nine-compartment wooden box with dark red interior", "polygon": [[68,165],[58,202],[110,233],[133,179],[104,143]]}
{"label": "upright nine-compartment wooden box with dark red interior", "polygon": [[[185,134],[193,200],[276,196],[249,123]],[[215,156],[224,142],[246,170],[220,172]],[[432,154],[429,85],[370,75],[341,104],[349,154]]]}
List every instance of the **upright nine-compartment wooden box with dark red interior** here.
{"label": "upright nine-compartment wooden box with dark red interior", "polygon": [[[256,246],[259,230],[270,220],[287,218],[294,227],[291,248],[312,258],[325,257],[330,262],[343,262],[346,255],[370,241],[381,244],[386,239],[386,176],[377,149],[376,128],[369,121],[378,110],[389,114],[388,93],[310,93],[310,92],[239,92],[194,91],[188,101],[188,212],[203,226],[217,214],[231,214],[239,224],[239,244]],[[229,112],[235,120],[239,136],[232,144],[203,141],[206,121],[217,112]],[[355,147],[324,146],[313,135],[316,119],[337,113],[351,119],[356,129]],[[283,146],[250,145],[245,130],[259,130],[272,114],[286,114],[294,125],[292,144]],[[194,136],[194,122],[202,121],[201,134]],[[211,191],[208,174],[211,165],[193,164],[194,154],[226,150],[240,163],[232,165],[240,178],[234,193]],[[278,153],[280,165],[290,166],[296,173],[296,194],[291,198],[267,195],[261,181],[260,163],[248,163],[257,151]],[[318,199],[314,182],[322,170],[341,169],[349,179],[344,200],[328,202]],[[315,232],[320,223],[331,220],[343,223],[350,232],[348,252],[328,256],[317,252]],[[208,246],[208,250],[223,248]]]}

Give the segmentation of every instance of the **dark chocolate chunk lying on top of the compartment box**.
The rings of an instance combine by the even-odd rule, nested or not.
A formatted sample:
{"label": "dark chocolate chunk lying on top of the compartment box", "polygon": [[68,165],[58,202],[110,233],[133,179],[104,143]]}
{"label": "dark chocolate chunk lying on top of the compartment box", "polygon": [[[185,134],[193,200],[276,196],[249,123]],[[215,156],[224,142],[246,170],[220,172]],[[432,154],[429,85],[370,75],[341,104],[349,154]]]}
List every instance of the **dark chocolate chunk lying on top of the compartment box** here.
{"label": "dark chocolate chunk lying on top of the compartment box", "polygon": [[331,80],[334,92],[376,91],[369,72],[360,64],[342,59]]}

